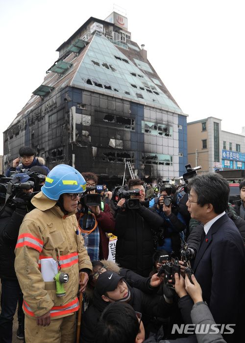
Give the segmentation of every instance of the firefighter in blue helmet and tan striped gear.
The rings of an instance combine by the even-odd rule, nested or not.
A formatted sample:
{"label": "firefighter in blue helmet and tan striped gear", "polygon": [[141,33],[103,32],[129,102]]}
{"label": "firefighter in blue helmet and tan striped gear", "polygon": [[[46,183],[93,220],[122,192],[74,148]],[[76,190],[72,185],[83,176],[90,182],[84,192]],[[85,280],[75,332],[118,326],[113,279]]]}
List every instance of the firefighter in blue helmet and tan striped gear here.
{"label": "firefighter in blue helmet and tan striped gear", "polygon": [[[76,169],[55,166],[31,201],[36,208],[21,225],[15,270],[24,294],[26,343],[74,342],[79,276],[85,272],[79,282],[83,291],[92,271],[75,217],[85,189],[85,180]],[[44,267],[47,260],[42,260],[47,258],[53,269]]]}

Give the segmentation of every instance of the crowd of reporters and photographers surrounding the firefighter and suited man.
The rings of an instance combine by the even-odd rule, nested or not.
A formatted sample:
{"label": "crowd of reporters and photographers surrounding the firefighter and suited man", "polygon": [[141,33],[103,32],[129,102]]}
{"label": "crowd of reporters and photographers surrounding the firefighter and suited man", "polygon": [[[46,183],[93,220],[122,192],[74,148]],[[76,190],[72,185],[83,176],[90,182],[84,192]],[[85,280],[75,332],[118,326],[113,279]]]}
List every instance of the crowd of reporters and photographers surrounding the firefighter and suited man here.
{"label": "crowd of reporters and photographers surrounding the firefighter and suited man", "polygon": [[[25,158],[14,160],[0,180],[0,343],[12,342],[18,300],[17,336],[25,336],[14,250],[25,214],[33,209],[31,199],[49,172],[29,147],[20,151],[22,155]],[[108,190],[105,184],[98,186],[93,172],[81,175],[86,190],[79,198],[76,218],[93,271],[83,295],[79,342],[226,342],[219,332],[195,335],[172,329],[176,324],[215,324],[192,276],[205,234],[203,223],[191,219],[186,206],[190,188],[172,183],[155,187],[148,183],[146,187],[144,181],[130,179],[127,186]],[[225,212],[245,243],[245,220],[240,217],[243,209],[238,205],[240,209],[237,206],[235,211],[227,202]],[[115,263],[108,261],[108,233],[117,237]],[[231,338],[227,342],[235,341]]]}

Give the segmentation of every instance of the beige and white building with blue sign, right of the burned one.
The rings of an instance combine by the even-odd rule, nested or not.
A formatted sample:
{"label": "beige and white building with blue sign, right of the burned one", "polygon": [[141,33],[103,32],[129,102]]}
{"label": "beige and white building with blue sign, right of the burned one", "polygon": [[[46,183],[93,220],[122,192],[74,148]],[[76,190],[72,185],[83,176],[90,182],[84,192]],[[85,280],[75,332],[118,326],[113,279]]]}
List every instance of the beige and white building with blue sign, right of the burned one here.
{"label": "beige and white building with blue sign, right of the burned one", "polygon": [[197,173],[245,169],[245,127],[241,135],[221,130],[221,119],[207,117],[187,123],[188,163]]}

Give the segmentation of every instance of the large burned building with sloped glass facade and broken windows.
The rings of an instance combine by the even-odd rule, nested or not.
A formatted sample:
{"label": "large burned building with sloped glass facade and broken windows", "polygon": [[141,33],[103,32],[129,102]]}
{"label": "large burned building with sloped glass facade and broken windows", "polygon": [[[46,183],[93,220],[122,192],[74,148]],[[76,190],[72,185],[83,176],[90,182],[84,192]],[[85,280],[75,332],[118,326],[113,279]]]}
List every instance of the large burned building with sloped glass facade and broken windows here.
{"label": "large burned building with sloped glass facade and broken windows", "polygon": [[49,169],[70,164],[107,184],[122,182],[126,161],[147,182],[185,172],[187,115],[144,46],[131,40],[127,18],[91,17],[56,51],[44,82],[4,132],[4,170],[30,145]]}

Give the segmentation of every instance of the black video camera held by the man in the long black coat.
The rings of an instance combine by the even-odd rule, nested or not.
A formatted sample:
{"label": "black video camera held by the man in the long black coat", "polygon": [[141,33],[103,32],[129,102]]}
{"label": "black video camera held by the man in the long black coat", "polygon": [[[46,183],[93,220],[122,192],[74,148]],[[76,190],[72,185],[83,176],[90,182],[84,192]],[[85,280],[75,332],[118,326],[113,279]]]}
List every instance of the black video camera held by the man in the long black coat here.
{"label": "black video camera held by the man in the long black coat", "polygon": [[125,203],[123,204],[123,208],[127,209],[137,209],[140,208],[140,200],[139,199],[131,199],[131,196],[138,196],[142,194],[142,190],[139,188],[129,190],[127,186],[117,186],[113,190],[112,198],[111,198],[111,205],[114,210],[117,210],[117,204],[120,199],[125,199]]}

